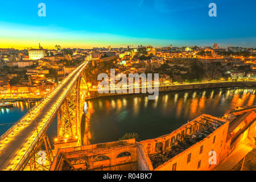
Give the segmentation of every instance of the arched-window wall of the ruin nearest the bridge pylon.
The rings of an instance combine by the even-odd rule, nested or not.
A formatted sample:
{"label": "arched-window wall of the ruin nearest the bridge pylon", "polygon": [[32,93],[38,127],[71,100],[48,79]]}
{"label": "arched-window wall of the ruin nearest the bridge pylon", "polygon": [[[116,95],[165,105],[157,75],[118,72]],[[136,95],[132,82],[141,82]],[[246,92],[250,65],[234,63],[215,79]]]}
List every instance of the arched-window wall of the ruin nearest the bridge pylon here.
{"label": "arched-window wall of the ruin nearest the bridge pylon", "polygon": [[63,170],[64,160],[68,160],[78,170],[134,171],[137,170],[137,144],[135,139],[128,139],[59,148],[51,170]]}

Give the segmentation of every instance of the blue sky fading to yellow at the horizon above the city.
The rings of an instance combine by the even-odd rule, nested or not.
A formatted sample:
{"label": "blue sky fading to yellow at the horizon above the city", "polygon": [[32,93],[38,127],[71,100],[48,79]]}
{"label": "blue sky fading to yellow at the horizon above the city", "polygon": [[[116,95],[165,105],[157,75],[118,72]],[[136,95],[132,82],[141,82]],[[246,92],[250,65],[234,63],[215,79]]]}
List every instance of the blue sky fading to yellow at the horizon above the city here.
{"label": "blue sky fading to yellow at the horizon above the city", "polygon": [[[208,15],[209,3],[217,17]],[[46,4],[46,17],[38,4]],[[255,0],[3,1],[0,47],[256,47]]]}

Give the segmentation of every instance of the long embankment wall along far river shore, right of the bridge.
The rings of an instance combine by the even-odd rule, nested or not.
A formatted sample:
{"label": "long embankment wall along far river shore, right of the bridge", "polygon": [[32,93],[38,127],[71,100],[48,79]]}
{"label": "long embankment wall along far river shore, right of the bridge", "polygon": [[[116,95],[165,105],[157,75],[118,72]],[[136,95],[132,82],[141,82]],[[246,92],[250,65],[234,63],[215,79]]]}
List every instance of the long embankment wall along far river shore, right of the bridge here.
{"label": "long embankment wall along far river shore, right of the bridge", "polygon": [[[183,91],[183,90],[195,90],[195,89],[214,89],[214,88],[236,88],[236,87],[254,87],[256,81],[223,81],[223,82],[207,82],[207,83],[194,83],[194,84],[180,84],[180,85],[163,85],[159,86],[159,92],[172,92],[172,91]],[[97,90],[90,90],[90,97],[87,100],[92,100],[99,97],[109,96],[122,96],[136,94],[135,92],[129,93],[103,93],[100,94]],[[139,89],[139,94],[142,93],[142,88]],[[148,94],[148,93],[145,93]],[[148,94],[152,95],[152,94]]]}

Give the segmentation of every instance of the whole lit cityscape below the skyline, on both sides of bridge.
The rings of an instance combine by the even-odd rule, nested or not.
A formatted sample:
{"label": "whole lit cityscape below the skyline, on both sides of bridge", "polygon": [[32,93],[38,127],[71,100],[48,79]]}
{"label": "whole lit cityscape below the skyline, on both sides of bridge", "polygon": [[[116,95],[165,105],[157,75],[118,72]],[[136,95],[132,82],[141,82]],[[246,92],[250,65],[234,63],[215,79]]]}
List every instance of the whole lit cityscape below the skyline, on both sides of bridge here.
{"label": "whole lit cityscape below the skyline, on both sides of bridge", "polygon": [[[243,55],[244,52],[247,54]],[[129,45],[127,48],[109,46],[92,49],[61,49],[57,45],[55,49],[43,49],[39,44],[38,49],[0,49],[0,64],[3,70],[0,77],[0,92],[46,93],[51,90],[55,82],[59,82],[59,78],[67,76],[75,69],[76,65],[72,63],[73,60],[84,60],[85,57],[89,57],[94,66],[114,57],[116,73],[128,75],[129,73],[156,72],[159,73],[160,84],[164,85],[184,82],[185,75],[193,71],[191,63],[194,60],[204,64],[206,68],[212,67],[208,65],[211,63],[221,65],[218,72],[210,74],[209,71],[210,79],[213,77],[254,79],[256,75],[255,53],[256,50],[253,48],[228,47],[224,49],[218,47],[217,43],[214,43],[213,47],[155,48],[140,45],[133,48]],[[239,69],[245,65],[250,66],[250,71]],[[3,68],[5,66],[8,69]],[[9,75],[12,74],[16,74],[13,77],[20,78],[18,83],[11,81],[12,78],[10,79]],[[48,85],[48,88],[44,89],[44,85]]]}

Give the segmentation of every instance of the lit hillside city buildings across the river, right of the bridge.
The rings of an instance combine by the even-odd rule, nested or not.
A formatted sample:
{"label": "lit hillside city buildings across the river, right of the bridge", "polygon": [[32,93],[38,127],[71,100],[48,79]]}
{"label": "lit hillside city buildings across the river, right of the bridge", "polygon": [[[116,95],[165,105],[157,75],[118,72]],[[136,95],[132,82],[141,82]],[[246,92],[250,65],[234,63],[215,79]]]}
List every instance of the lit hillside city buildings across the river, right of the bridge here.
{"label": "lit hillside city buildings across the river, right of the bridge", "polygon": [[[167,85],[175,82],[191,82],[193,80],[190,79],[191,73],[201,72],[203,69],[205,71],[203,78],[200,80],[197,78],[195,81],[254,80],[255,54],[254,48],[224,49],[214,43],[213,47],[94,48],[91,58],[95,66],[109,57],[115,59],[118,55],[114,65],[116,74],[124,73],[128,76],[129,73],[159,73],[159,84]],[[193,70],[192,64],[195,61],[201,64],[199,70]]]}

